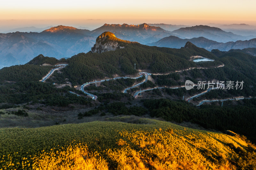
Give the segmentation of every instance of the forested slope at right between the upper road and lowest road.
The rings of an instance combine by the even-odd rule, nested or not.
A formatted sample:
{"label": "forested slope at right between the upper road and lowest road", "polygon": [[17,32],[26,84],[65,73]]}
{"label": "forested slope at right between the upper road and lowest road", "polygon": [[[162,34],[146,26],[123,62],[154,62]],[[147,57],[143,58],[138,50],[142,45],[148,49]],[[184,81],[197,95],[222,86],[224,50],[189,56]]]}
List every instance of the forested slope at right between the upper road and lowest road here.
{"label": "forested slope at right between the upper road and lowest road", "polygon": [[[216,98],[225,99],[236,96],[256,96],[256,57],[248,54],[240,54],[240,52],[226,52],[225,56],[221,55],[219,57],[220,58],[216,59],[214,62],[224,63],[224,67],[193,69],[166,75],[152,75],[151,77],[154,78],[156,84],[159,86],[180,86],[185,84],[185,80],[191,80],[195,84],[199,80],[206,81],[206,83],[208,83],[208,81],[224,81],[225,83],[227,83],[227,81],[234,81],[234,83],[236,81],[244,81],[243,89],[236,90],[234,88],[210,91],[194,99],[196,101]],[[166,89],[166,92],[168,94],[178,94],[178,96],[186,94],[186,90],[183,89]]]}

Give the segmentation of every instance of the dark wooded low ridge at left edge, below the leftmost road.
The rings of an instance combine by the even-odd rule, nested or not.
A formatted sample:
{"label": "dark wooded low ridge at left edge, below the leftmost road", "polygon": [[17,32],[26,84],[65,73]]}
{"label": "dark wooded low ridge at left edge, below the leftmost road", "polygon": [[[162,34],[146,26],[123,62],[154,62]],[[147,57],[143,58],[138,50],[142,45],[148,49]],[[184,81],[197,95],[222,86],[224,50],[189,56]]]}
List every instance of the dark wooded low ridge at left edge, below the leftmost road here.
{"label": "dark wooded low ridge at left edge, below the leftmost road", "polygon": [[[39,81],[23,81],[0,85],[0,103],[23,104],[27,102],[42,103],[47,106],[67,107],[77,103],[86,105],[90,103],[85,97],[78,97],[68,91],[76,91],[69,86],[56,88],[52,84]],[[11,105],[12,106],[12,105]]]}

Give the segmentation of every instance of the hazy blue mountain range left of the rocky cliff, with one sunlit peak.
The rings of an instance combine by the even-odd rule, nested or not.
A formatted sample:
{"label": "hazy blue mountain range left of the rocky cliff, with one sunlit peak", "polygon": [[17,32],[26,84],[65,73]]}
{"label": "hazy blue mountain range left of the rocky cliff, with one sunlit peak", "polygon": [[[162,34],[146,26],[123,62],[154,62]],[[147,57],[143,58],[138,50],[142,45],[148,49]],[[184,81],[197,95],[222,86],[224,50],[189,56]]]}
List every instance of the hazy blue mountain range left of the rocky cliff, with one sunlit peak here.
{"label": "hazy blue mountain range left of the rocky cliff, with one sunlit peak", "polygon": [[89,30],[57,26],[41,33],[0,33],[0,59],[5,64],[27,63],[34,56],[44,54],[64,58],[90,51],[95,38]]}

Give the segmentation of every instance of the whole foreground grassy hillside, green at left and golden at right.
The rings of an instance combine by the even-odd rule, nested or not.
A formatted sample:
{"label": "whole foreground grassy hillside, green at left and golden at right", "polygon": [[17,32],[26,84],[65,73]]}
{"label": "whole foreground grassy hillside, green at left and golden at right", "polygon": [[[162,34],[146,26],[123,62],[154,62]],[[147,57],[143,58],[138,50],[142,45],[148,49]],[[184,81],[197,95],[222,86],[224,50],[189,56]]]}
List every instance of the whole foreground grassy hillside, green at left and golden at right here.
{"label": "whole foreground grassy hillside, green at left and golden at right", "polygon": [[[3,169],[255,169],[239,136],[140,119],[0,129]],[[12,141],[12,142],[10,142]]]}

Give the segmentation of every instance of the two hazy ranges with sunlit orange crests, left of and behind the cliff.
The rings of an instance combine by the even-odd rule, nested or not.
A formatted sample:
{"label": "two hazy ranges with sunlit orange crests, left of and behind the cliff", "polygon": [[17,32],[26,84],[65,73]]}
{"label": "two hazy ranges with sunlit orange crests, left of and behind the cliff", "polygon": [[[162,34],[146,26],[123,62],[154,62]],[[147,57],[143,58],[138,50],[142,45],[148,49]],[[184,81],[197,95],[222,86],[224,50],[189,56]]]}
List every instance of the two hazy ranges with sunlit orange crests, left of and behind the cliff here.
{"label": "two hazy ranges with sunlit orange crests, left of and behind the cliff", "polygon": [[120,39],[148,43],[158,41],[171,33],[160,27],[128,24],[104,24],[89,31],[71,26],[55,26],[41,33],[0,33],[0,59],[2,64],[24,64],[39,54],[58,59],[89,52],[96,38],[106,31]]}

